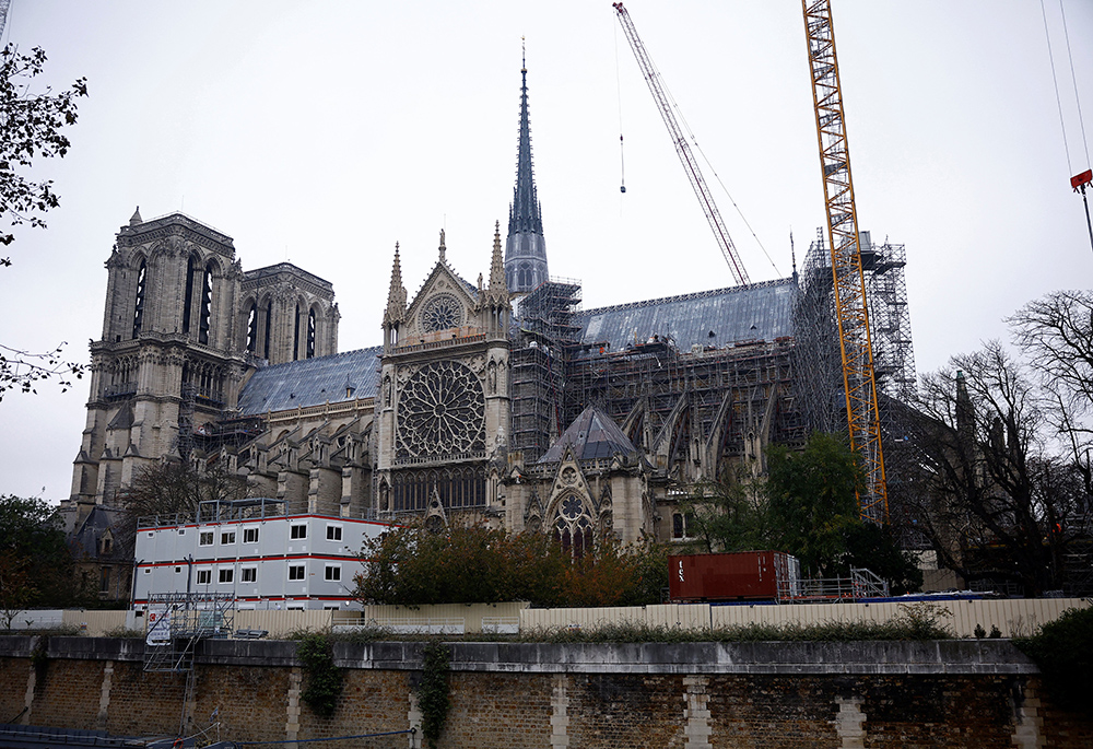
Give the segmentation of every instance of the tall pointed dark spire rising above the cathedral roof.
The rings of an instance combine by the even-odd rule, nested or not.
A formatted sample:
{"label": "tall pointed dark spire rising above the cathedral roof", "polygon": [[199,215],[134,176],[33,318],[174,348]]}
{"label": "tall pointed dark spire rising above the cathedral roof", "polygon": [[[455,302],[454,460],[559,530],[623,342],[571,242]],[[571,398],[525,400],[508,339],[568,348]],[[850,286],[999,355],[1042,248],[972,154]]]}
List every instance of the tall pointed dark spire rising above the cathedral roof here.
{"label": "tall pointed dark spire rising above the cathedral roof", "polygon": [[508,276],[508,289],[514,292],[531,291],[548,278],[542,209],[539,204],[531,164],[526,54],[520,75],[520,136],[516,159],[516,188],[513,191],[513,203],[508,209],[508,239],[505,243],[505,271]]}

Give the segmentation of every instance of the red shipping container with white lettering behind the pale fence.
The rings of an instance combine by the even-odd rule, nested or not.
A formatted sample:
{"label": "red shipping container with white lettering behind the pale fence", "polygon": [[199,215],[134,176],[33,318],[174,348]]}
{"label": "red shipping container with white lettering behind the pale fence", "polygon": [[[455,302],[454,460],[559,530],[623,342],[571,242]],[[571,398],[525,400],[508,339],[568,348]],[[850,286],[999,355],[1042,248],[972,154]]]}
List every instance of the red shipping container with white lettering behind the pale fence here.
{"label": "red shipping container with white lettering behind the pale fence", "polygon": [[784,551],[683,554],[668,558],[668,571],[673,602],[776,600],[779,582],[796,582],[797,560]]}

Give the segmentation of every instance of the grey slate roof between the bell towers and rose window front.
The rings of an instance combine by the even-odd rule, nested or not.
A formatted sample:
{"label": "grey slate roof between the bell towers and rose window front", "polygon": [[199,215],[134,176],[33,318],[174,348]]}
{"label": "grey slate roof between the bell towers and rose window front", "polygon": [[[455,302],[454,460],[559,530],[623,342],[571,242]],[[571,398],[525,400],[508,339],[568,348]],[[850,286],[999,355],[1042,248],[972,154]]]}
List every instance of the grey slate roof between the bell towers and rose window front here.
{"label": "grey slate roof between the bell towers and rose window front", "polygon": [[[242,416],[290,408],[374,398],[378,390],[379,355],[384,347],[357,349],[332,356],[284,362],[258,370],[239,393]],[[346,387],[355,388],[352,396]]]}

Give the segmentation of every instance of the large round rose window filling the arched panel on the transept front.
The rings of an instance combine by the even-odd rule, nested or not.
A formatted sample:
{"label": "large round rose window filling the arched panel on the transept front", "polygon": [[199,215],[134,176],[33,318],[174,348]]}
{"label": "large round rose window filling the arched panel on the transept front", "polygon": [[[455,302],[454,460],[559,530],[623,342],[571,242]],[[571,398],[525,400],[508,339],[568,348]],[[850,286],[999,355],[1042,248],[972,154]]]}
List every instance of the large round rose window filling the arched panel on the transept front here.
{"label": "large round rose window filling the arched panel on the transept front", "polygon": [[458,362],[432,362],[399,396],[398,458],[481,454],[485,450],[482,384]]}

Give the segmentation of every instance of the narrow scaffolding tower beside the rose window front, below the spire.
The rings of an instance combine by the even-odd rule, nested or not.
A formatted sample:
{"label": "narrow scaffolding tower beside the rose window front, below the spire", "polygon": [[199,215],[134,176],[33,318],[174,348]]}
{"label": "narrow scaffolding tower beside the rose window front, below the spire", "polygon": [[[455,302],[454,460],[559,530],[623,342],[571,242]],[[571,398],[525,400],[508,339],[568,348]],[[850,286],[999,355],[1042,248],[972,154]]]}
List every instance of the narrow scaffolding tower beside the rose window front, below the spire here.
{"label": "narrow scaffolding tower beside the rose window front, below the spire", "polygon": [[538,460],[561,436],[566,367],[580,327],[580,282],[551,279],[520,301],[517,348],[512,356],[513,446],[528,464]]}

